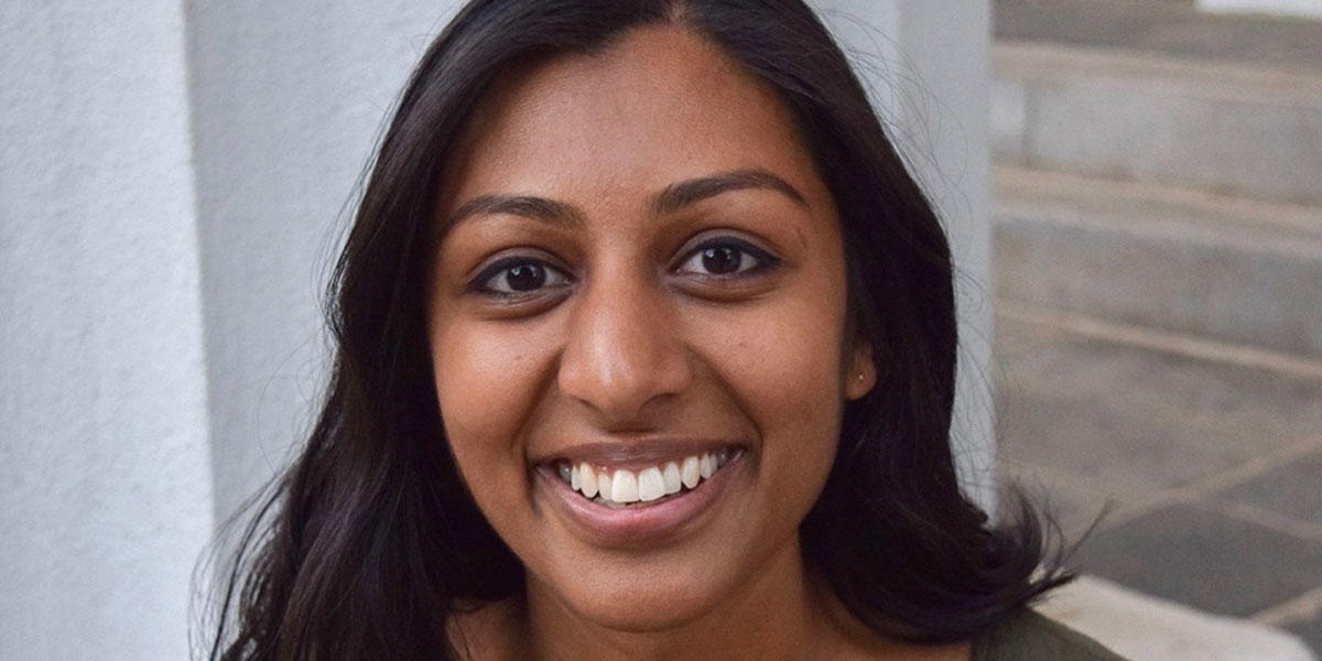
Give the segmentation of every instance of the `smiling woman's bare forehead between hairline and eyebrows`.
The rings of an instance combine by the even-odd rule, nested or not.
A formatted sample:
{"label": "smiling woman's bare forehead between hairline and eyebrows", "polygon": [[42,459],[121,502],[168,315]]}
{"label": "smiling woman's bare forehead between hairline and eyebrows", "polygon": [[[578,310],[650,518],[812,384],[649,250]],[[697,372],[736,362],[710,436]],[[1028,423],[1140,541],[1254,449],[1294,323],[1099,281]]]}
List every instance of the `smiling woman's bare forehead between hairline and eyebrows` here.
{"label": "smiling woman's bare forehead between hairline and eyebrows", "polygon": [[[674,26],[504,73],[448,164],[442,208],[486,193],[637,201],[670,182],[765,168],[824,197],[793,115],[717,46]],[[584,200],[572,200],[578,194]]]}

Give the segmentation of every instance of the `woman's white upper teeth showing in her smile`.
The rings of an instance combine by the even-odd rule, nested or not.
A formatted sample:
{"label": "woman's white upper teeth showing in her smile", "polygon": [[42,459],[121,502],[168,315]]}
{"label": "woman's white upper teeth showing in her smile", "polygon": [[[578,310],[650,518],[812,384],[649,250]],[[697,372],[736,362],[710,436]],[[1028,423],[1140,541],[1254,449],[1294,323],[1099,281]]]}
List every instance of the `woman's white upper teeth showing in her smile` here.
{"label": "woman's white upper teeth showing in her smile", "polygon": [[661,461],[639,471],[559,460],[555,473],[575,493],[608,508],[636,508],[687,494],[742,452],[724,447],[713,452]]}

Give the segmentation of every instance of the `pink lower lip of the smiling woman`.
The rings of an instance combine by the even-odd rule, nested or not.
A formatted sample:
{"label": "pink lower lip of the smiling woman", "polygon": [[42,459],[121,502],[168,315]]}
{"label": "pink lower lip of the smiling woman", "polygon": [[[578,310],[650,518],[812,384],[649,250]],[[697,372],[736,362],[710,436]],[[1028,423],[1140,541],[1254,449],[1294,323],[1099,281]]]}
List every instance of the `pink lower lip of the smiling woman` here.
{"label": "pink lower lip of the smiling woman", "polygon": [[541,465],[534,473],[543,493],[564,513],[570,524],[588,541],[608,547],[637,547],[654,545],[676,537],[697,522],[720,498],[735,473],[743,468],[746,449],[739,451],[728,464],[720,467],[698,488],[672,496],[650,505],[608,508],[583,497],[554,473],[554,468]]}

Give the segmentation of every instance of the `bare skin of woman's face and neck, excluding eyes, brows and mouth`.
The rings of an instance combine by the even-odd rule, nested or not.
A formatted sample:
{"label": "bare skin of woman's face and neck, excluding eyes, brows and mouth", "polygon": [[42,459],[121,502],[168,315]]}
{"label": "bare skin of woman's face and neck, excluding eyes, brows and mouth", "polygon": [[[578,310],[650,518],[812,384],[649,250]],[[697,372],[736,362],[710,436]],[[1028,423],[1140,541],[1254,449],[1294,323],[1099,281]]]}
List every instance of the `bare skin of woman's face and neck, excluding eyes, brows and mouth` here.
{"label": "bare skin of woman's face and neck, excluding eyes, brows and mouth", "polygon": [[[748,169],[796,193],[736,186],[654,205],[677,182]],[[439,223],[489,194],[553,200],[578,218],[479,212],[436,249],[427,319],[446,434],[529,576],[524,599],[452,621],[473,658],[968,658],[966,645],[875,635],[805,570],[798,525],[845,401],[875,373],[871,348],[842,337],[834,201],[769,87],[682,28],[635,30],[600,54],[502,75],[443,181]],[[726,238],[775,267],[713,276],[694,251]],[[473,291],[512,255],[543,264],[545,286]],[[740,268],[759,263],[739,255]],[[477,284],[508,288],[501,274]],[[534,463],[644,436],[747,449],[713,506],[662,543],[594,543]]]}

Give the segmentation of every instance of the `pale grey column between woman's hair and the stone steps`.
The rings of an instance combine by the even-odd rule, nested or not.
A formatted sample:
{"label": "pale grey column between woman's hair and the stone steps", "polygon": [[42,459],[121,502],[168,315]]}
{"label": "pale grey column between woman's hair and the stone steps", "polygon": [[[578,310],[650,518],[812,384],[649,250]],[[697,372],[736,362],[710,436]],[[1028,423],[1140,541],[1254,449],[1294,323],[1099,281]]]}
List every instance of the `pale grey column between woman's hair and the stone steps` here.
{"label": "pale grey column between woman's hair and the stone steps", "polygon": [[995,505],[988,0],[817,0],[951,235],[960,315],[952,449],[965,490]]}

